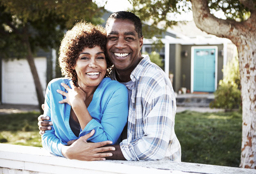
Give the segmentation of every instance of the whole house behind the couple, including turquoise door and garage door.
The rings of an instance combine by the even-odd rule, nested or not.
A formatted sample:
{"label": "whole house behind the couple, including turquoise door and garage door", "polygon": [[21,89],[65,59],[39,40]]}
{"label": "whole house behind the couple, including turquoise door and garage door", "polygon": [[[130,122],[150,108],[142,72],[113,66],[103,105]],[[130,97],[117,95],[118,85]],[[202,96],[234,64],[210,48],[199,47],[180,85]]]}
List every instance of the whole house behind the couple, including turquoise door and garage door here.
{"label": "whole house behind the couple, including turquoise door and garage door", "polygon": [[[111,13],[106,13],[105,20]],[[102,25],[105,25],[102,24]],[[214,92],[222,79],[222,68],[232,58],[234,46],[230,40],[208,35],[197,29],[193,21],[168,29],[161,39],[164,47],[159,54],[164,71],[173,74],[172,85],[178,92],[182,87],[191,93]],[[152,51],[152,40],[144,38],[142,52]],[[43,92],[55,78],[56,51],[39,50],[35,56]],[[1,58],[1,57],[0,57]],[[26,59],[0,60],[0,103],[37,105],[34,81]]]}

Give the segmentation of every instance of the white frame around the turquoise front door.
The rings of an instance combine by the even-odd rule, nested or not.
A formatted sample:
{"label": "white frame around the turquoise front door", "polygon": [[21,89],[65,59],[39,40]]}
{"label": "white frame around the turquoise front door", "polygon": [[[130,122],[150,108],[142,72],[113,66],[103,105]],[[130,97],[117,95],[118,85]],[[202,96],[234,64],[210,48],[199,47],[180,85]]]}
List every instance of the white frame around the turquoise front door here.
{"label": "white frame around the turquoise front door", "polygon": [[217,65],[218,65],[218,47],[217,46],[192,46],[191,47],[191,77],[190,77],[190,91],[191,93],[194,92],[194,52],[195,49],[215,49],[215,85],[214,90],[217,89]]}

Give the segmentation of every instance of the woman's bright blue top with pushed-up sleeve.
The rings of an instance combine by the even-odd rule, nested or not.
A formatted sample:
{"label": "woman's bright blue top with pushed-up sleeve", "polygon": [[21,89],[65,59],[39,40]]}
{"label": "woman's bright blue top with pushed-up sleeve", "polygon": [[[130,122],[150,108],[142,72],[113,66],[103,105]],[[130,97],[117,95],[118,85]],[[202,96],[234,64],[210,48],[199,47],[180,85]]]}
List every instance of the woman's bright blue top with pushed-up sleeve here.
{"label": "woman's bright blue top with pushed-up sleeve", "polygon": [[[66,97],[56,90],[67,92],[61,83],[70,86],[69,79],[58,78],[50,81],[46,89],[44,115],[50,117],[53,125],[42,136],[43,147],[58,156],[63,156],[63,145],[77,139],[69,125],[71,106],[67,103],[59,104]],[[116,144],[120,141],[128,116],[128,92],[123,84],[109,77],[102,79],[87,109],[93,119],[80,131],[79,137],[95,129],[94,135],[88,139],[91,142],[111,140]]]}

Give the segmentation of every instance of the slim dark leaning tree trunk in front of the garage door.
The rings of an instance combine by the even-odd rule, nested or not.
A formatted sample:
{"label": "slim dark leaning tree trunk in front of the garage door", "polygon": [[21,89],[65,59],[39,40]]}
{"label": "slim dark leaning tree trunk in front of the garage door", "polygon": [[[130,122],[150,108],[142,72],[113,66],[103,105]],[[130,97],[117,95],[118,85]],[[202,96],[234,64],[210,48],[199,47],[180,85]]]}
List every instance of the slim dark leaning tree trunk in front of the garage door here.
{"label": "slim dark leaning tree trunk in front of the garage door", "polygon": [[34,57],[33,57],[32,51],[31,51],[28,36],[25,35],[24,38],[25,38],[24,39],[24,45],[27,48],[27,62],[29,64],[29,68],[31,70],[31,73],[32,73],[32,76],[33,76],[33,79],[34,79],[34,84],[35,84],[35,87],[36,87],[37,100],[38,100],[38,103],[39,103],[39,110],[40,110],[41,113],[43,113],[43,110],[41,108],[41,105],[44,104],[43,88],[42,88],[41,82],[39,80],[39,75],[38,75],[37,70],[36,70],[36,65],[35,65],[35,62],[34,62]]}

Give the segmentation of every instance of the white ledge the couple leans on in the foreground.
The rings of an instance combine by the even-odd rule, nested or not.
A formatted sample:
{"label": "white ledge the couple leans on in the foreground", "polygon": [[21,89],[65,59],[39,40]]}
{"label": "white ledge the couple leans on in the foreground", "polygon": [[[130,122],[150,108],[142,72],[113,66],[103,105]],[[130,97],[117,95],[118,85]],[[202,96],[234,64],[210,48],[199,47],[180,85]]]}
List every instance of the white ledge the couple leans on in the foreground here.
{"label": "white ledge the couple leans on in the foreground", "polygon": [[0,173],[70,174],[70,173],[154,173],[154,174],[256,174],[255,169],[224,167],[172,161],[79,161],[50,154],[40,147],[0,144]]}

